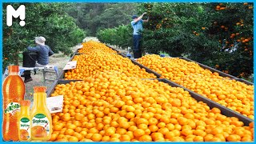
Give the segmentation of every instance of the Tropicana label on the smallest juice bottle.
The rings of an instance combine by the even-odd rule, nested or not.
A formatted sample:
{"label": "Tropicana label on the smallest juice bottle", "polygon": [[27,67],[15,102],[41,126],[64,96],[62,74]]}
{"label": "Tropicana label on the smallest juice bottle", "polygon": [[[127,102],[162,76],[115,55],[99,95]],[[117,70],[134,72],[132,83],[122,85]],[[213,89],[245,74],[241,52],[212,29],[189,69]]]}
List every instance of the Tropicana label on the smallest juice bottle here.
{"label": "Tropicana label on the smallest juice bottle", "polygon": [[30,126],[30,119],[29,118],[22,118],[19,125],[20,130],[20,138],[22,140],[28,140],[31,137],[30,132],[31,126]]}

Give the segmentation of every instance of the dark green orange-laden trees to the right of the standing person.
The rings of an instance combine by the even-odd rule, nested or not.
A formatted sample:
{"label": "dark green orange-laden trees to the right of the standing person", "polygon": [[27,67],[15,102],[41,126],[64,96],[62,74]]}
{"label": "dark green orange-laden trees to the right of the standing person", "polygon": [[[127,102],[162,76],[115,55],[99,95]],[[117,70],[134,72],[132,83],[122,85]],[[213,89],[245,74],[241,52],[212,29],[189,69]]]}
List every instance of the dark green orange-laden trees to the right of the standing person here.
{"label": "dark green orange-laden trees to the right of the standing person", "polygon": [[143,30],[146,52],[185,56],[238,77],[253,73],[253,3],[141,3],[143,12],[150,17]]}

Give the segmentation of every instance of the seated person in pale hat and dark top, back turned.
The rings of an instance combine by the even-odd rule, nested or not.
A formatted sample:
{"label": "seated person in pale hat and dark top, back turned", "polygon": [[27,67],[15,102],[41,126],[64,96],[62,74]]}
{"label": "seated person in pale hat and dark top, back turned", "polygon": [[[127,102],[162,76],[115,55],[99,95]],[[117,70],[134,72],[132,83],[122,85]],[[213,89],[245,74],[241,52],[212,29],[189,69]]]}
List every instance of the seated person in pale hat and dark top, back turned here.
{"label": "seated person in pale hat and dark top, back turned", "polygon": [[[44,37],[36,37],[35,43],[37,46],[35,47],[27,47],[27,50],[37,52],[38,53],[38,61],[35,63],[36,67],[44,67],[48,65],[49,63],[49,57],[54,54],[52,50],[50,50],[50,47],[45,44],[46,38]],[[24,71],[24,82],[30,82],[33,81],[30,75],[30,70]]]}

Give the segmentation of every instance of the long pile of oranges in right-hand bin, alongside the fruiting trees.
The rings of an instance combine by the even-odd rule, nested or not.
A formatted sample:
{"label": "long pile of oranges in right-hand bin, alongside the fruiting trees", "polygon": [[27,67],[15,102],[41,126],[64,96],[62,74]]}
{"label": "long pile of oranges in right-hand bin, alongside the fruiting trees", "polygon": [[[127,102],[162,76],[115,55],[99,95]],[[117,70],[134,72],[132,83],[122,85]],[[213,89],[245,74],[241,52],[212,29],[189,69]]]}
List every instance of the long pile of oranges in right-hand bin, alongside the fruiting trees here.
{"label": "long pile of oranges in right-hand bin, alongside the fruiting trees", "polygon": [[181,86],[254,119],[254,86],[223,78],[218,73],[203,69],[195,62],[180,58],[161,58],[146,55],[137,60]]}

